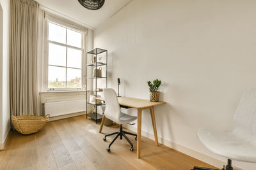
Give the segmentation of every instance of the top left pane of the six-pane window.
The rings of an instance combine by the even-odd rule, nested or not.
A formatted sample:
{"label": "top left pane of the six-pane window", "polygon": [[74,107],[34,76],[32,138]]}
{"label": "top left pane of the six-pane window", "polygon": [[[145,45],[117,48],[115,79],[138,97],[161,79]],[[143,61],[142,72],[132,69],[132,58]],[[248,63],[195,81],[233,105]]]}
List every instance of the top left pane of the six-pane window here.
{"label": "top left pane of the six-pane window", "polygon": [[49,23],[48,38],[51,41],[66,44],[66,28]]}

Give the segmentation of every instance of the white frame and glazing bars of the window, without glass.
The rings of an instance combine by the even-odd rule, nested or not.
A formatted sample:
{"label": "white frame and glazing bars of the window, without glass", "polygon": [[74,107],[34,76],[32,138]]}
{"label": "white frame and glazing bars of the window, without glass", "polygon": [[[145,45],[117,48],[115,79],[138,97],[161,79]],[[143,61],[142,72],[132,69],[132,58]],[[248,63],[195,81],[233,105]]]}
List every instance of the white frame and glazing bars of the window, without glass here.
{"label": "white frame and glazing bars of the window, without glass", "polygon": [[[51,41],[48,39],[48,32],[49,32],[49,24],[48,22],[51,22],[52,24],[56,24],[56,25],[60,25],[61,27],[65,27],[67,29],[70,29],[72,31],[76,31],[81,33],[82,39],[81,39],[81,48],[77,48],[76,46],[71,46],[71,45],[67,45],[67,44],[63,44],[63,43],[58,43],[56,41]],[[45,29],[44,29],[44,89],[46,91],[80,91],[84,89],[84,85],[85,85],[85,57],[86,57],[86,33],[87,33],[87,29],[83,28],[83,27],[79,27],[76,24],[72,24],[68,21],[62,20],[58,17],[53,17],[51,15],[47,16],[47,19],[45,19]],[[81,66],[81,88],[49,88],[48,87],[48,67],[50,66],[48,63],[48,52],[49,52],[49,43],[53,43],[54,45],[61,45],[61,46],[65,46],[65,47],[70,47],[70,48],[74,48],[74,49],[78,49],[78,50],[82,50],[82,66]],[[66,43],[67,43],[67,30],[66,30]],[[54,65],[51,65],[54,66]],[[66,66],[58,66],[58,67],[65,67],[66,68],[66,85],[67,85],[67,68],[73,68],[73,67],[68,67],[67,66],[67,51],[66,51]],[[77,69],[77,68],[75,68]]]}

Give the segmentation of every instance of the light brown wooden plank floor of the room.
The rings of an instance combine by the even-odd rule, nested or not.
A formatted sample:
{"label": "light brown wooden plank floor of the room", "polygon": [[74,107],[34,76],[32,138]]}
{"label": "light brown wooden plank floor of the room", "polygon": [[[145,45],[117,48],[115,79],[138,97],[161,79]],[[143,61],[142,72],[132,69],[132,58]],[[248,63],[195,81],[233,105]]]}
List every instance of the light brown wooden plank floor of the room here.
{"label": "light brown wooden plank floor of the room", "polygon": [[[103,127],[102,132],[117,131]],[[129,150],[127,141],[116,140],[110,153],[106,148],[112,137],[104,142],[99,124],[84,116],[48,122],[37,132],[23,136],[12,132],[6,149],[0,152],[0,169],[186,169],[193,166],[212,167],[200,160],[177,152],[154,141],[141,138],[141,159]]]}

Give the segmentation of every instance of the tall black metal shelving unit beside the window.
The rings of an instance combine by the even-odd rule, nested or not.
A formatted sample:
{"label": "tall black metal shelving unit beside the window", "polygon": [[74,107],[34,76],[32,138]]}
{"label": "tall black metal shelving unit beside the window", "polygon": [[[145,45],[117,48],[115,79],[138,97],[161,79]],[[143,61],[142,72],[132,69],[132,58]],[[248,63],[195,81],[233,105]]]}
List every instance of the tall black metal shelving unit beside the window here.
{"label": "tall black metal shelving unit beside the window", "polygon": [[[104,54],[104,53],[106,53],[105,62],[97,62],[97,60],[98,60],[97,55]],[[95,55],[96,56],[96,62],[88,64],[88,55]],[[100,67],[100,66],[105,66],[106,67],[106,76],[102,76],[102,77],[97,76],[97,71],[95,73],[95,77],[88,76],[88,67],[96,67],[96,69],[97,69],[97,67]],[[100,80],[105,79],[106,80],[106,87],[108,87],[108,50],[104,50],[104,49],[101,49],[101,48],[94,48],[94,49],[86,52],[86,118],[87,117],[92,118],[93,120],[95,120],[96,124],[97,124],[98,120],[102,119],[102,115],[100,115],[97,112],[97,106],[103,106],[104,104],[97,104],[97,102],[96,103],[89,103],[87,100],[88,100],[88,94],[89,93],[93,93],[97,96],[97,93],[102,92],[102,91],[97,90],[97,80],[99,80],[99,79]],[[92,89],[95,88],[95,90],[88,89],[88,81],[89,80],[95,80],[92,83],[93,84]],[[87,111],[88,104],[95,107],[95,112],[88,113],[88,111]]]}

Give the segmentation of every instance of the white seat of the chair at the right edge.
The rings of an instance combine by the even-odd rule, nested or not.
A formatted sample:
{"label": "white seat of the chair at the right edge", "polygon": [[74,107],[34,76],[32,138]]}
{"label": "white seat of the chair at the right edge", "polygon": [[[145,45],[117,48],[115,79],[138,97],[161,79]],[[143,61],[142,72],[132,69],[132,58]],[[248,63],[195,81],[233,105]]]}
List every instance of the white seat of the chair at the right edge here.
{"label": "white seat of the chair at the right edge", "polygon": [[233,132],[200,129],[198,138],[211,152],[232,160],[256,162],[256,146],[237,137]]}

